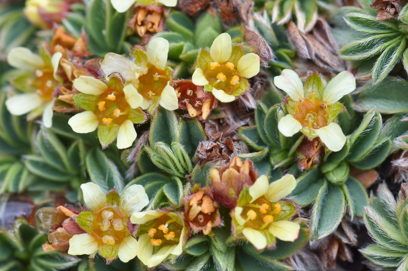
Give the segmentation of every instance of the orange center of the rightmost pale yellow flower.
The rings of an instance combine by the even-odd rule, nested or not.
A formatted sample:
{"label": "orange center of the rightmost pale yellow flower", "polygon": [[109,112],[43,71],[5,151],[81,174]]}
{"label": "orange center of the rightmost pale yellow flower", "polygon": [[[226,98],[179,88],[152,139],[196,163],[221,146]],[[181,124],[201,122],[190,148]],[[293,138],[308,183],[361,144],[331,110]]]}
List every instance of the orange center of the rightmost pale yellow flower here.
{"label": "orange center of the rightmost pale yellow flower", "polygon": [[303,99],[297,106],[293,116],[303,127],[319,129],[327,125],[326,109],[327,105],[322,101],[310,101]]}

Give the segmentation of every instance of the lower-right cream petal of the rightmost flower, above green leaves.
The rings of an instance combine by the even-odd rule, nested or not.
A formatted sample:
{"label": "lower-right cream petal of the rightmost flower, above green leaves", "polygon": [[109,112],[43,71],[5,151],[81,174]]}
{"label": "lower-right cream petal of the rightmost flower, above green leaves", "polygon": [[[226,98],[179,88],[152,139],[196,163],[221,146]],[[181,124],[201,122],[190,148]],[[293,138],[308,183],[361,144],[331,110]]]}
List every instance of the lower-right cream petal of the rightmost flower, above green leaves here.
{"label": "lower-right cream petal of the rightmost flower, above green leaves", "polygon": [[317,129],[316,133],[330,151],[340,151],[346,143],[346,136],[335,122]]}

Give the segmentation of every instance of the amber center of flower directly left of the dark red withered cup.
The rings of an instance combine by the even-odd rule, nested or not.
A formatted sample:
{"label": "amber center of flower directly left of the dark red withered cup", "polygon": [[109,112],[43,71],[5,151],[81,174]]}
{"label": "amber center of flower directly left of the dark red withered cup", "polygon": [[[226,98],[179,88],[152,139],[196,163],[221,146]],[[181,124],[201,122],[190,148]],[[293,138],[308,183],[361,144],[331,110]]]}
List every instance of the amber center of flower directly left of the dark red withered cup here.
{"label": "amber center of flower directly left of the dark red withered cup", "polygon": [[159,70],[149,63],[147,68],[147,72],[139,76],[137,91],[147,99],[159,98],[171,78],[165,70]]}

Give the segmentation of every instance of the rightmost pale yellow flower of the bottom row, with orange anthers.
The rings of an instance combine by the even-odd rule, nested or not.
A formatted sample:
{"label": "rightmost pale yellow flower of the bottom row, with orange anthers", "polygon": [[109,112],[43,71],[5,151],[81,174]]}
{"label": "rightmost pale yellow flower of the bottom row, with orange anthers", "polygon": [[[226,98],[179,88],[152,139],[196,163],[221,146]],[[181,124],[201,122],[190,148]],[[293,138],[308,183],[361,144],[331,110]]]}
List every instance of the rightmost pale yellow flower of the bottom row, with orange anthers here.
{"label": "rightmost pale yellow flower of the bottom row, with orange anthers", "polygon": [[231,210],[233,234],[243,234],[256,248],[272,248],[275,237],[293,242],[299,236],[300,226],[288,221],[299,208],[282,198],[296,186],[293,175],[285,175],[269,184],[268,177],[262,175],[239,195],[237,207]]}

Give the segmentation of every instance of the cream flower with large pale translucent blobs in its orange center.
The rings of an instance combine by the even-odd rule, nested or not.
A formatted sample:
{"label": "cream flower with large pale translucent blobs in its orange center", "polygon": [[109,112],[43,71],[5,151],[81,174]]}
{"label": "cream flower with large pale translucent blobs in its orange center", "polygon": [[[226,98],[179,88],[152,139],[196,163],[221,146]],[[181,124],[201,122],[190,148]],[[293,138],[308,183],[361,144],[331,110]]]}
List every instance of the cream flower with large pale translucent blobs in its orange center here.
{"label": "cream flower with large pale translucent blobs in its orange center", "polygon": [[75,216],[75,221],[86,233],[69,239],[68,254],[94,256],[99,252],[108,262],[116,257],[122,262],[135,258],[138,246],[131,235],[129,216],[149,203],[143,186],[133,184],[120,196],[115,189],[105,195],[98,185],[90,182],[82,184],[81,189],[89,211]]}

